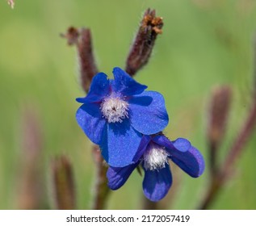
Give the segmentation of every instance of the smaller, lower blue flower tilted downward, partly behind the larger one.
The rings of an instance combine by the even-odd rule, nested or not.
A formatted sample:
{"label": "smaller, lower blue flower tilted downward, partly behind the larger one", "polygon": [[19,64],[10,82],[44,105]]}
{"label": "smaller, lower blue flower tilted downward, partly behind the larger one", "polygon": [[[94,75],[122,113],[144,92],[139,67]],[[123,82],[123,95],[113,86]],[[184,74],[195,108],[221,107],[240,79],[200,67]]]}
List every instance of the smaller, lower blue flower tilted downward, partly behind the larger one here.
{"label": "smaller, lower blue flower tilted downward, partly behind the larger one", "polygon": [[107,170],[108,186],[117,190],[129,178],[132,171],[141,164],[145,171],[143,191],[145,196],[157,202],[163,199],[172,184],[168,159],[174,161],[182,170],[193,178],[204,172],[204,157],[191,143],[183,138],[170,141],[164,135],[143,136],[134,164],[125,167],[109,167]]}

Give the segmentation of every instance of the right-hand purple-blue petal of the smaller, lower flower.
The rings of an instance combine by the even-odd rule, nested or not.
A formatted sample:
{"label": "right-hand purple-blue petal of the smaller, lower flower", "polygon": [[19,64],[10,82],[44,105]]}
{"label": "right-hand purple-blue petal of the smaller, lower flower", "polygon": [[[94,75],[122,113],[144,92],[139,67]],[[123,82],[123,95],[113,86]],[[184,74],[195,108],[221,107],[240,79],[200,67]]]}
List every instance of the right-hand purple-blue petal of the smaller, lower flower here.
{"label": "right-hand purple-blue petal of the smaller, lower flower", "polygon": [[204,173],[204,157],[195,147],[185,153],[174,149],[170,153],[170,159],[191,177],[198,178]]}

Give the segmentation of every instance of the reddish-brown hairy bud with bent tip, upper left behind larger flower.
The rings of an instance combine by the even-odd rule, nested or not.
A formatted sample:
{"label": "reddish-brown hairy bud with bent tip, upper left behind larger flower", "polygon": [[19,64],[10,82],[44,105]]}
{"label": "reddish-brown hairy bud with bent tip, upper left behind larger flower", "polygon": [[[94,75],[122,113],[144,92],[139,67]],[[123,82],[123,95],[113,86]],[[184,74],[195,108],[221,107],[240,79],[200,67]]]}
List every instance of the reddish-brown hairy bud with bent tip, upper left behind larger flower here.
{"label": "reddish-brown hairy bud with bent tip, upper left behind larger flower", "polygon": [[90,29],[69,27],[61,36],[68,40],[69,45],[77,46],[81,86],[85,92],[88,92],[92,78],[99,72],[94,61]]}

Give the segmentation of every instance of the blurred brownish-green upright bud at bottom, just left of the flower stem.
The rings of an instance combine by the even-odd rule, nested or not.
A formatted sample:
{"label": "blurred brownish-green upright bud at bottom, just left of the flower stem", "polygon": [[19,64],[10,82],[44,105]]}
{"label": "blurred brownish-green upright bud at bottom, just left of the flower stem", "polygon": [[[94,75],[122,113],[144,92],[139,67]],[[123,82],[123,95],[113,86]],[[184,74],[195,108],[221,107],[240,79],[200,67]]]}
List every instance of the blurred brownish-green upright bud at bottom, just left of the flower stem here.
{"label": "blurred brownish-green upright bud at bottom, just left of the flower stem", "polygon": [[74,209],[76,202],[73,169],[67,157],[57,157],[52,161],[52,176],[57,209]]}

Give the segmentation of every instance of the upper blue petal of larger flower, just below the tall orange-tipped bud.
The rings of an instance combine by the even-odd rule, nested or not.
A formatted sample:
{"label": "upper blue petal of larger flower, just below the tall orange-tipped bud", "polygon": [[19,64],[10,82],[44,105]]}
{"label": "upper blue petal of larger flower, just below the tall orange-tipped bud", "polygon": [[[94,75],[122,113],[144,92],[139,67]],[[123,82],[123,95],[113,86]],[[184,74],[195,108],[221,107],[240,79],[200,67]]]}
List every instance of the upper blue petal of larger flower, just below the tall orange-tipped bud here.
{"label": "upper blue petal of larger flower, just below the tall orange-tipped bud", "polygon": [[113,74],[115,80],[112,82],[112,89],[115,93],[131,96],[141,94],[147,88],[147,86],[136,82],[128,73],[120,68],[114,68]]}

